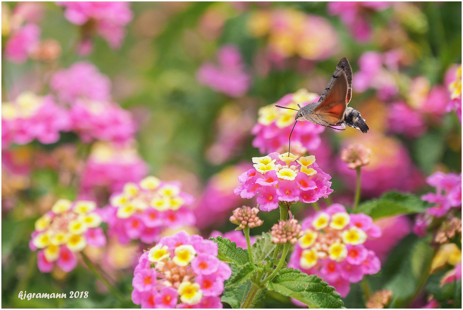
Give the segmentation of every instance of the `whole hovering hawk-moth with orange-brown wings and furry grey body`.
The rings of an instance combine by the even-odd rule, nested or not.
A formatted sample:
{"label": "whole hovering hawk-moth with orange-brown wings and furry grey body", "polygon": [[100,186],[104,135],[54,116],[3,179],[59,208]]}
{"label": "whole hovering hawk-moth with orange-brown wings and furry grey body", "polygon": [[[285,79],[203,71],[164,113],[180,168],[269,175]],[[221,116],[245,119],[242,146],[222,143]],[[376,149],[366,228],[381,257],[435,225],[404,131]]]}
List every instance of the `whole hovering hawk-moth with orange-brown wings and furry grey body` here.
{"label": "whole hovering hawk-moth with orange-brown wings and furry grey body", "polygon": [[[346,125],[359,129],[363,133],[369,130],[360,112],[347,107],[352,98],[352,68],[347,58],[339,60],[330,83],[326,86],[318,102],[299,106],[295,117],[297,121],[309,121],[325,127]],[[277,105],[278,108],[291,109]],[[295,110],[295,109],[292,109]],[[296,124],[294,123],[294,126]],[[333,128],[337,129],[337,128]]]}

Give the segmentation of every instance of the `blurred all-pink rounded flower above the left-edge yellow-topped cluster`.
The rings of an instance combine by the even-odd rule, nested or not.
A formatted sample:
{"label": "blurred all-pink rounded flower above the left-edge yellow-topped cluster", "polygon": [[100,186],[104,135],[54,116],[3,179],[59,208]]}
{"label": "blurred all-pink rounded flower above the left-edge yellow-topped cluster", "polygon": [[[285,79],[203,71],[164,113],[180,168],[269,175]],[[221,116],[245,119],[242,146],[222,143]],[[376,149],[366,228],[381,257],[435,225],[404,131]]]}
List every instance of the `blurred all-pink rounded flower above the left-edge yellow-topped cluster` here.
{"label": "blurred all-pink rounded flower above the left-edge yellow-topped cluster", "polygon": [[51,76],[50,88],[56,92],[61,103],[74,103],[78,98],[98,101],[111,99],[111,80],[87,61],[56,71]]}

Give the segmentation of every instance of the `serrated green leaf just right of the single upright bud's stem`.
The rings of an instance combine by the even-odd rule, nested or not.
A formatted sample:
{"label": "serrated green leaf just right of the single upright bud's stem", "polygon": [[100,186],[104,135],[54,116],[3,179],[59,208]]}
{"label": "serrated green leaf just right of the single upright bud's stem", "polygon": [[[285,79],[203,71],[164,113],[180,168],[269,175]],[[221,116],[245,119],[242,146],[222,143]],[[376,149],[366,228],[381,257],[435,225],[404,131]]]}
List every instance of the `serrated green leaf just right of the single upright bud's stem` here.
{"label": "serrated green leaf just right of the single upright bud's stem", "polygon": [[410,214],[425,211],[427,203],[412,194],[388,192],[379,199],[364,202],[357,208],[357,213],[365,213],[373,220],[397,214]]}

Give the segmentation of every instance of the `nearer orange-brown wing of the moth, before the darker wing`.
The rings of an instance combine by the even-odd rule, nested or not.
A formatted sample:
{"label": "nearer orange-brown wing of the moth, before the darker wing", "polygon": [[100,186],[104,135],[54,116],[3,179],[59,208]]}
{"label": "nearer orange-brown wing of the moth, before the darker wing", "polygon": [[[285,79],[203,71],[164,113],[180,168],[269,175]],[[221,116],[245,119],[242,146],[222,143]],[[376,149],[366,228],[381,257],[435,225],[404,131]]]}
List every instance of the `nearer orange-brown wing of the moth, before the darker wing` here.
{"label": "nearer orange-brown wing of the moth, before the darker wing", "polygon": [[337,124],[344,119],[348,95],[349,82],[344,71],[341,71],[330,86],[323,101],[320,102],[312,113],[322,116],[329,124]]}

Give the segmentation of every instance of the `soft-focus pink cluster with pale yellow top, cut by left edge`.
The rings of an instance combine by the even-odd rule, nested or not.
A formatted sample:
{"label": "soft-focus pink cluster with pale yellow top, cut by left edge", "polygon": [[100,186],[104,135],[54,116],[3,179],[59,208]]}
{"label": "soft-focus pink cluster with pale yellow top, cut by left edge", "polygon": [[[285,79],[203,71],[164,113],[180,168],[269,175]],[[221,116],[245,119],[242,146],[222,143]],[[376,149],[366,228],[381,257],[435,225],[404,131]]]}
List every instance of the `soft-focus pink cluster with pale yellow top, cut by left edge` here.
{"label": "soft-focus pink cluster with pale yellow top, cut by left edge", "polygon": [[2,149],[11,143],[27,144],[37,139],[44,144],[59,140],[61,131],[69,131],[70,119],[66,110],[53,97],[39,97],[23,92],[11,103],[1,107]]}

